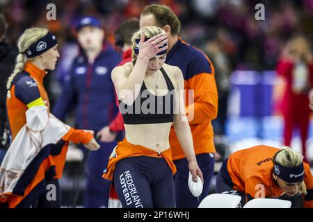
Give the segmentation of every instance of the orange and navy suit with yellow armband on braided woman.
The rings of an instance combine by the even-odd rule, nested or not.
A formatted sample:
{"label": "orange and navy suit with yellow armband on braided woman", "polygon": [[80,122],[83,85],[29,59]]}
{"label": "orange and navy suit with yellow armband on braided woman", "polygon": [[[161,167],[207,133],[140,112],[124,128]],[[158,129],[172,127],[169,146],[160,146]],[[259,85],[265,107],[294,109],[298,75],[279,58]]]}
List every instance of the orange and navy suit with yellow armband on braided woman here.
{"label": "orange and navy suit with yellow armband on braided woman", "polygon": [[[26,124],[25,112],[28,109],[38,105],[46,105],[49,109],[49,97],[43,86],[45,75],[46,71],[27,62],[24,71],[15,76],[6,101],[8,123],[13,139]],[[13,191],[11,196],[0,202],[8,203],[8,207],[32,205],[33,201],[45,192],[47,183],[62,177],[69,142],[87,144],[91,139],[93,139],[93,135],[90,133],[70,128],[63,136],[62,141],[51,148],[49,153],[38,153],[38,157],[33,163],[36,167],[26,169],[29,172],[26,177],[31,178],[31,181],[28,179],[28,182],[24,182],[22,191],[19,190],[18,195]]]}

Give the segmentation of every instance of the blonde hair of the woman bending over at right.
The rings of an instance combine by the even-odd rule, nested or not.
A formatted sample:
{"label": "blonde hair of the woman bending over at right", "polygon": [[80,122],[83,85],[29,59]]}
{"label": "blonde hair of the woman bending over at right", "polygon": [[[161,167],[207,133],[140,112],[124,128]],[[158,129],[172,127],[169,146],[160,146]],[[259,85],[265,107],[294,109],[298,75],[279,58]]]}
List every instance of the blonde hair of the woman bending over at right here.
{"label": "blonde hair of the woman bending over at right", "polygon": [[[282,146],[282,150],[276,153],[274,161],[283,167],[298,167],[303,162],[303,155],[288,146]],[[307,186],[304,180],[301,183],[299,191],[301,194],[307,194]]]}

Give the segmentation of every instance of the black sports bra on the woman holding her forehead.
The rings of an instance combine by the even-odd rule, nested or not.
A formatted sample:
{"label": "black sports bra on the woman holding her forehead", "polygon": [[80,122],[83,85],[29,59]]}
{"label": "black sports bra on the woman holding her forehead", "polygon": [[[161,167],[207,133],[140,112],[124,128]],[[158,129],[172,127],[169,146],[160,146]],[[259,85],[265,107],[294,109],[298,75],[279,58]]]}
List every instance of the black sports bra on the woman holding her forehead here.
{"label": "black sports bra on the woman holding her forehead", "polygon": [[174,114],[174,86],[168,74],[160,69],[168,85],[168,93],[164,96],[154,96],[150,93],[145,82],[141,92],[131,105],[120,102],[120,112],[125,124],[169,123],[173,121]]}

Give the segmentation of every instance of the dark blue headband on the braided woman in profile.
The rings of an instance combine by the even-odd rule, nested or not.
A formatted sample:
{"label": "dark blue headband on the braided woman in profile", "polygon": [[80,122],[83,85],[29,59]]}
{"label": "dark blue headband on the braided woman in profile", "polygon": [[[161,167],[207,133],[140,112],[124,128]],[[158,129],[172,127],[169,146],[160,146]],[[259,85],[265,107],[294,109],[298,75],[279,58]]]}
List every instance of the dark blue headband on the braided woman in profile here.
{"label": "dark blue headband on the braided woman in profile", "polygon": [[40,56],[42,53],[45,53],[45,51],[48,51],[56,44],[58,44],[56,41],[56,36],[48,32],[47,35],[41,37],[39,40],[31,44],[29,49],[27,49],[24,54],[26,54],[27,58]]}

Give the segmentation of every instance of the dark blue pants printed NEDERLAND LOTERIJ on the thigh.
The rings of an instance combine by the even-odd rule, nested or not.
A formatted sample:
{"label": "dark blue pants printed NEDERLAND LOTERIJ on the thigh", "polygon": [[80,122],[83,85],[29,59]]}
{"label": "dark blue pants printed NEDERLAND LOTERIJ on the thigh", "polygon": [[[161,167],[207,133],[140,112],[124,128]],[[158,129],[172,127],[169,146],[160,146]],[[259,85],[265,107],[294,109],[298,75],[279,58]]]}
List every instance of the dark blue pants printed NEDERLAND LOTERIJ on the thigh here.
{"label": "dark blue pants printed NEDERLAND LOTERIJ on the thigh", "polygon": [[115,165],[114,187],[124,208],[174,208],[172,171],[163,158],[127,157]]}

